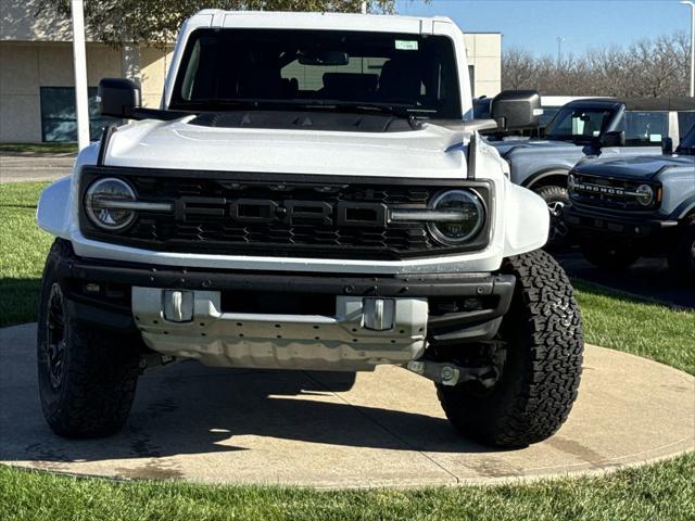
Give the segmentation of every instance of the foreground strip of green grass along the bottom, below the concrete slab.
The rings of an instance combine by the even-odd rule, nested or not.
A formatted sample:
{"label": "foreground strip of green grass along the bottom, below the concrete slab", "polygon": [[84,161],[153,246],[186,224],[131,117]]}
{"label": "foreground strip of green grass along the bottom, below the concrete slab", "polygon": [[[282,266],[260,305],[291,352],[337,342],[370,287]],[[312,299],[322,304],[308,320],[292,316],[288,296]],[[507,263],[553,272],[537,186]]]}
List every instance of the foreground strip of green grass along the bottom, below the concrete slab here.
{"label": "foreground strip of green grass along the bottom, below the concrete slab", "polygon": [[[0,467],[4,520],[692,520],[695,457],[527,485],[338,491],[114,483]],[[2,501],[2,497],[9,500]]]}

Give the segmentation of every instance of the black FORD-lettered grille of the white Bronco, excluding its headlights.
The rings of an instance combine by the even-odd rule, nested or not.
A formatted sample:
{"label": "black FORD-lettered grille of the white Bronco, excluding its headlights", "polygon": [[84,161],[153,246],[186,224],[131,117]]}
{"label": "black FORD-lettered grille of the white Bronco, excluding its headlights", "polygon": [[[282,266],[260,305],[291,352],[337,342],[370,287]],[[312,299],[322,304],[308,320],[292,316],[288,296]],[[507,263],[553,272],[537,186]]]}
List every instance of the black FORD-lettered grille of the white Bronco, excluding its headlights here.
{"label": "black FORD-lettered grille of the white Bronco, excluding its headlights", "polygon": [[[129,182],[138,200],[170,203],[173,212],[139,212],[128,228],[111,232],[97,228],[84,212],[85,192],[102,177]],[[238,223],[231,218],[238,200],[292,201],[350,205],[359,218],[359,205],[391,211],[427,209],[429,201],[450,189],[473,190],[483,201],[485,224],[470,242],[448,246],[437,242],[426,223],[378,223],[349,226],[333,217],[285,223]],[[494,185],[486,180],[342,177],[298,174],[257,174],[210,170],[86,166],[80,175],[79,221],[92,240],[173,253],[282,257],[399,260],[483,250],[494,219]],[[289,203],[290,205],[292,203]],[[301,215],[301,214],[300,214]]]}

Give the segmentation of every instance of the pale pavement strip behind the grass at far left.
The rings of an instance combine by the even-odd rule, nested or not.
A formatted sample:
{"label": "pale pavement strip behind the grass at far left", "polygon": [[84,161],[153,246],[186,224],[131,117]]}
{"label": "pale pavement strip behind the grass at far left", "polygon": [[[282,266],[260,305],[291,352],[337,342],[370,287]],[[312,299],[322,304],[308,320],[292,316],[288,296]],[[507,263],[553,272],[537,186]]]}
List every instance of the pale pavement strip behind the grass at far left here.
{"label": "pale pavement strip behind the grass at far left", "polygon": [[52,181],[68,176],[75,154],[0,152],[0,183]]}

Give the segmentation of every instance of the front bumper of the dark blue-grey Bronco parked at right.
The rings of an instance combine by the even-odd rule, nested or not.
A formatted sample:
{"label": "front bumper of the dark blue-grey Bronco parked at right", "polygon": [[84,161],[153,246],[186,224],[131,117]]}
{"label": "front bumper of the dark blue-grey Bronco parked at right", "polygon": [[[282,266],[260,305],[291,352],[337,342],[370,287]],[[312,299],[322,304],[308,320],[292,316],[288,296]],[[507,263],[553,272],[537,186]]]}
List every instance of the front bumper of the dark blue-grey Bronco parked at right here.
{"label": "front bumper of the dark blue-grey Bronco parked at right", "polygon": [[646,216],[614,215],[578,206],[564,211],[565,224],[583,234],[605,234],[628,240],[644,240],[678,226],[675,220],[660,220]]}

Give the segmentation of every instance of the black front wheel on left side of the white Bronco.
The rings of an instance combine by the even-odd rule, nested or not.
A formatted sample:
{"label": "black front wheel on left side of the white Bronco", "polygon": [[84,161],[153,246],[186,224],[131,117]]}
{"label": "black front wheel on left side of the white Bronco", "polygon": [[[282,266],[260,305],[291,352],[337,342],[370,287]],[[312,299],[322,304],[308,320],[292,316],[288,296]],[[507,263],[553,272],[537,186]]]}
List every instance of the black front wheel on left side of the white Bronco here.
{"label": "black front wheel on left side of the white Bronco", "polygon": [[71,316],[56,278],[59,258],[70,243],[56,240],[41,287],[37,366],[43,416],[55,434],[97,437],[118,431],[135,397],[139,339],[104,333]]}

